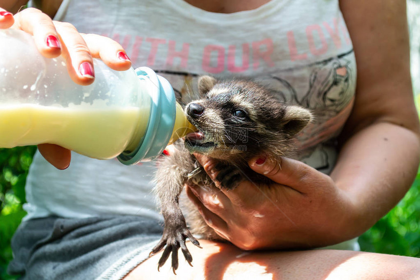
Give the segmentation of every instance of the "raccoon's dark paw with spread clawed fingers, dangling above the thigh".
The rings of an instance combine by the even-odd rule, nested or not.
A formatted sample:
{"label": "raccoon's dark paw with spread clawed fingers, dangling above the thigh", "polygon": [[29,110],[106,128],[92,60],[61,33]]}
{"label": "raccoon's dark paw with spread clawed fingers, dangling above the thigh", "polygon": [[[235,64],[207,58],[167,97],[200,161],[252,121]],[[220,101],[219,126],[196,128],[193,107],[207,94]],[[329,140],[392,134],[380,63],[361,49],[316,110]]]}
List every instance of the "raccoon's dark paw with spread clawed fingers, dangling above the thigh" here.
{"label": "raccoon's dark paw with spread clawed fingers, dangling above the thigh", "polygon": [[178,268],[178,249],[181,248],[182,253],[184,254],[185,259],[188,261],[189,265],[192,266],[192,256],[188,251],[187,246],[185,245],[185,240],[189,238],[192,244],[195,246],[202,248],[200,243],[198,242],[195,237],[189,232],[187,228],[181,228],[180,230],[174,230],[170,233],[164,231],[164,234],[159,241],[159,243],[151,250],[149,257],[156,254],[163,247],[166,248],[162,253],[162,257],[159,259],[158,264],[158,271],[159,269],[165,264],[167,259],[169,258],[169,253],[172,252],[172,271],[173,274],[176,275],[175,271]]}

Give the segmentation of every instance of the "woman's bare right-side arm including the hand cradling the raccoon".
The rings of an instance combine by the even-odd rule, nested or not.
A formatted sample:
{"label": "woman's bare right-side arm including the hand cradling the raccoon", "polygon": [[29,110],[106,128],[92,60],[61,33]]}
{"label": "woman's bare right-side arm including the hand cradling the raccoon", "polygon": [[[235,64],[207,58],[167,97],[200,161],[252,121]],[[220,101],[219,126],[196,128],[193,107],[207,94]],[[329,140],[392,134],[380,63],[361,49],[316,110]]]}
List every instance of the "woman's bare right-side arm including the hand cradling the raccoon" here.
{"label": "woman's bare right-side arm including the hand cradling the raccoon", "polygon": [[[243,249],[312,247],[357,237],[412,184],[419,164],[405,1],[341,0],[357,60],[353,113],[331,176],[284,159],[251,168],[278,185],[263,194],[250,182],[189,197],[221,236]],[[264,157],[264,155],[262,155]],[[206,171],[208,158],[199,158]],[[215,178],[216,173],[208,172]]]}

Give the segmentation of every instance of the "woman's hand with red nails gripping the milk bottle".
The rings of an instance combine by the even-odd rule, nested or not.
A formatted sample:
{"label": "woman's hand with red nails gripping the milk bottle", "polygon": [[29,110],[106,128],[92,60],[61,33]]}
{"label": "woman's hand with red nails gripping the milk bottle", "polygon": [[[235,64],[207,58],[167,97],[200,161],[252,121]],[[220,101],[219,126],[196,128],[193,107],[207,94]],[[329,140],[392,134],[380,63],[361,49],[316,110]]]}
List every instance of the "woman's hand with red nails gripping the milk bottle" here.
{"label": "woman's hand with red nails gripping the milk bottle", "polygon": [[[47,58],[62,55],[71,79],[79,85],[93,83],[93,58],[100,58],[114,70],[126,70],[131,66],[119,43],[104,36],[79,33],[72,24],[52,21],[34,8],[24,9],[14,16],[0,8],[0,28],[20,29],[33,35],[38,50]],[[67,149],[52,144],[38,145],[38,149],[58,169],[65,169],[70,164]]]}

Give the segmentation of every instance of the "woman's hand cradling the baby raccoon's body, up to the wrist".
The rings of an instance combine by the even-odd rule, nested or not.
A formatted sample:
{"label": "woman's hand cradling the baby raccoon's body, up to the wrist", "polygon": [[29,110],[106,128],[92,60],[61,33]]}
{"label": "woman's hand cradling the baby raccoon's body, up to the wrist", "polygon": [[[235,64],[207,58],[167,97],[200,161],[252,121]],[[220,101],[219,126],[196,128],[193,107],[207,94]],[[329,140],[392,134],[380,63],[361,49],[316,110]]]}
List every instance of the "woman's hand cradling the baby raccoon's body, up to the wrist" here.
{"label": "woman's hand cradling the baby raccoon's body, up to the wrist", "polygon": [[[213,160],[196,157],[215,181]],[[187,187],[189,198],[221,237],[253,250],[319,247],[357,236],[352,201],[329,176],[289,158],[264,160],[252,159],[250,167],[273,180],[271,186],[259,188],[245,180],[234,190]]]}

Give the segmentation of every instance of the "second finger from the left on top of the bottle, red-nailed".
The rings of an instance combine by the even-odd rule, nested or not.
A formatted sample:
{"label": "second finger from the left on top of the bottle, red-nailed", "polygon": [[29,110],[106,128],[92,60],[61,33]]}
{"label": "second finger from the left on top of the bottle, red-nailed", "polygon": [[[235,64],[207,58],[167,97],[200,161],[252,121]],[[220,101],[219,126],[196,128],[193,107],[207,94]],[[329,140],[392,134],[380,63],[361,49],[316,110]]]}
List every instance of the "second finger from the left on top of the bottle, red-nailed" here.
{"label": "second finger from the left on top of the bottle, red-nailed", "polygon": [[53,58],[60,55],[62,48],[58,32],[51,18],[40,10],[27,8],[17,13],[12,27],[33,35],[43,56]]}

